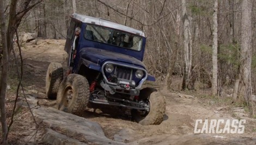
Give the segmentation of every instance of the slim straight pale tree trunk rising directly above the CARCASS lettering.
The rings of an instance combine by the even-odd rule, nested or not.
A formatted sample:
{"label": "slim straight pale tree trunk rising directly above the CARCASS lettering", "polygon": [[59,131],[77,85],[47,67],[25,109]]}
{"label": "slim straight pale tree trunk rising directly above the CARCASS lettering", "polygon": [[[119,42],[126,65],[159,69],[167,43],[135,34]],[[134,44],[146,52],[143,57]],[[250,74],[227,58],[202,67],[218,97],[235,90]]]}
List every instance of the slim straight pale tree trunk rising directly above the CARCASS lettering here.
{"label": "slim straight pale tree trunk rising directly above the CARCASS lettering", "polygon": [[213,30],[213,39],[212,39],[212,86],[211,86],[211,94],[212,96],[216,96],[218,93],[218,59],[217,59],[217,51],[218,51],[218,0],[214,1],[214,15],[212,25]]}

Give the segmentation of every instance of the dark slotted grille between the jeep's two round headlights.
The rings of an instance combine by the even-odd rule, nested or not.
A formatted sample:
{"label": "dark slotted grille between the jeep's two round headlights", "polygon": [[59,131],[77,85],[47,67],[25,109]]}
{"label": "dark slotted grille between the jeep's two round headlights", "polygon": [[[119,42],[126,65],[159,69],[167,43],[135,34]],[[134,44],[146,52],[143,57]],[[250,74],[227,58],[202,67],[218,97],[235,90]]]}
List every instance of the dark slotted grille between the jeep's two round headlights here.
{"label": "dark slotted grille between the jeep's two round headlights", "polygon": [[132,69],[122,66],[115,66],[114,74],[117,78],[130,80]]}

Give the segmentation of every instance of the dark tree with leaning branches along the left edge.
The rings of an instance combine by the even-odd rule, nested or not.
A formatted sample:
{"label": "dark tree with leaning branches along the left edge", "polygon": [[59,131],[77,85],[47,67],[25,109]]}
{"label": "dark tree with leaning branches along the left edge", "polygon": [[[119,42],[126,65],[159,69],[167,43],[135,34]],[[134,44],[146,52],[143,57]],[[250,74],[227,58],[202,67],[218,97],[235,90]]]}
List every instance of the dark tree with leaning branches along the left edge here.
{"label": "dark tree with leaning branches along the left edge", "polygon": [[[13,37],[16,29],[20,26],[22,18],[31,10],[35,5],[39,4],[42,0],[31,1],[23,0],[20,2],[20,7],[17,7],[17,0],[11,0],[9,10],[9,22],[8,29],[5,29],[5,16],[3,1],[0,2],[0,20],[1,20],[1,36],[3,45],[3,59],[2,59],[2,73],[0,80],[0,108],[1,108],[1,123],[2,123],[2,143],[7,144],[7,122],[6,122],[6,111],[5,111],[5,93],[7,89],[7,78],[9,69],[9,55],[13,49]],[[19,10],[19,11],[17,11]]]}

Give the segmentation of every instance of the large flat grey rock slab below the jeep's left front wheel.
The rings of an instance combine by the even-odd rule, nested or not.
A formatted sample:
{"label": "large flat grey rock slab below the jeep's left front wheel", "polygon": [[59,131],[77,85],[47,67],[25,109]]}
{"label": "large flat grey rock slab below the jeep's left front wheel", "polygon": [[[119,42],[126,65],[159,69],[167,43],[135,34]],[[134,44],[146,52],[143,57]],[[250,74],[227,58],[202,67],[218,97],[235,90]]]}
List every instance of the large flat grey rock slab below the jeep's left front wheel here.
{"label": "large flat grey rock slab below the jeep's left front wheel", "polygon": [[[98,123],[88,121],[85,118],[54,108],[39,107],[32,111],[35,117],[45,125],[46,133],[41,140],[44,143],[63,144],[63,138],[68,137],[71,144],[72,142],[74,144],[125,144],[110,140],[105,136]],[[53,133],[54,131],[56,133]],[[55,141],[56,138],[59,138],[59,141]]]}

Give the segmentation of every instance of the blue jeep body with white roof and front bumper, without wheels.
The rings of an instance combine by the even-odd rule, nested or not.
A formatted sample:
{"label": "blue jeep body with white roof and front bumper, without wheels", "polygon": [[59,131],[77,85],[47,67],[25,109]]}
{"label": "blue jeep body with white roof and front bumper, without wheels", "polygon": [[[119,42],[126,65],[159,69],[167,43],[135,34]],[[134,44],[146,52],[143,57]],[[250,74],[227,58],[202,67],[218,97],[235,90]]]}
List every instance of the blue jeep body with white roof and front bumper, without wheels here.
{"label": "blue jeep body with white roof and front bumper, without wheels", "polygon": [[[81,34],[76,58],[72,63],[71,46],[76,27],[81,28]],[[120,37],[124,37],[124,42],[117,42]],[[101,73],[103,81],[96,81],[102,89],[111,94],[138,96],[145,80],[155,81],[142,62],[145,43],[142,31],[101,18],[74,14],[68,29],[65,51],[69,54],[68,65],[73,67],[72,72],[86,76],[90,85]]]}

